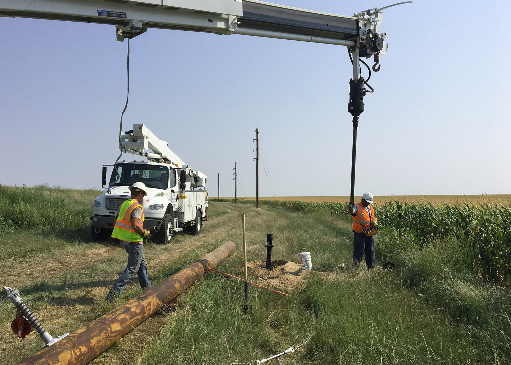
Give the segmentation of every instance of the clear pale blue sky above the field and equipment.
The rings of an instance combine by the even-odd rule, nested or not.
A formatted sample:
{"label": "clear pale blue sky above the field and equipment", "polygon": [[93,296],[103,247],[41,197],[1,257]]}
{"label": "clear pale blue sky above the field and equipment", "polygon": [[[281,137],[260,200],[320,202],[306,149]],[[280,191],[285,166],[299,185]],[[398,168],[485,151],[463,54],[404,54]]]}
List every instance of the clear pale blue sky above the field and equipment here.
{"label": "clear pale blue sky above the field and equipment", "polygon": [[[391,2],[280,4],[353,15]],[[511,193],[508,7],[418,0],[384,10],[389,50],[360,117],[357,195]],[[0,184],[100,187],[126,100],[127,41],[114,33],[0,18]],[[211,195],[217,173],[220,194],[234,195],[238,161],[238,195],[253,196],[259,127],[275,195],[349,195],[351,73],[341,46],[149,29],[131,41],[123,129],[146,124],[208,176]],[[260,195],[272,195],[263,166]]]}

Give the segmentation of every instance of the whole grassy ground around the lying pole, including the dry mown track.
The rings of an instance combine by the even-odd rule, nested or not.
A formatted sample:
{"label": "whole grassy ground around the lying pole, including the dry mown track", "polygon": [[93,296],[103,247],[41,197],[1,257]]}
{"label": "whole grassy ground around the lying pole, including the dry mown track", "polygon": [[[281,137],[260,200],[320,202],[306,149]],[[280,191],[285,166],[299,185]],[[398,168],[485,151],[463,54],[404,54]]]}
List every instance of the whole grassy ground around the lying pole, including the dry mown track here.
{"label": "whole grassy ground around the lying pole, including the dry mown track", "polygon": [[[0,217],[8,230],[0,234],[0,284],[17,287],[52,335],[71,333],[140,293],[137,284],[130,284],[118,303],[103,300],[124,269],[126,254],[113,241],[90,241],[84,212],[97,192],[1,188]],[[44,198],[48,196],[50,200]],[[75,212],[69,223],[73,229],[43,212],[53,211],[54,201]],[[9,210],[15,204],[17,210]],[[11,217],[29,214],[25,210],[40,225],[19,229],[21,222]],[[170,245],[144,245],[153,284],[228,240],[238,250],[219,269],[239,276],[242,213],[247,217],[249,261],[265,258],[266,234],[273,233],[275,259],[294,261],[306,247],[313,269],[332,276],[311,275],[305,288],[290,292],[292,298],[251,287],[253,311],[246,315],[240,309],[242,283],[210,273],[91,364],[248,363],[309,337],[304,346],[281,357],[282,364],[509,362],[509,292],[479,276],[470,237],[428,238],[414,246],[412,258],[402,239],[382,231],[377,265],[391,257],[397,270],[339,272],[339,263],[351,262],[353,240],[351,224],[342,215],[328,209],[256,210],[251,204],[211,197],[208,211],[200,236],[178,234]],[[32,333],[25,340],[12,333],[11,307],[0,303],[2,364],[14,364],[42,344]]]}

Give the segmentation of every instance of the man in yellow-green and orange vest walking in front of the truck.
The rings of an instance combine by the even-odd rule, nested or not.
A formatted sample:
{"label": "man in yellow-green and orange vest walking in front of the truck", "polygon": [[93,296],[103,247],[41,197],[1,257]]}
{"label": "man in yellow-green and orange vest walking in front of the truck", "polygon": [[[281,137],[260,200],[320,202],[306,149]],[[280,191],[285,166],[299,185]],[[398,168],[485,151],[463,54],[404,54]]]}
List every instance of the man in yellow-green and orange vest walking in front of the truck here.
{"label": "man in yellow-green and orange vest walking in front of the truck", "polygon": [[142,200],[147,195],[146,185],[143,182],[135,182],[128,187],[131,192],[131,199],[126,200],[119,207],[112,237],[121,241],[121,246],[128,253],[128,265],[117,282],[106,295],[108,301],[119,298],[126,285],[132,277],[138,276],[138,282],[142,290],[149,289],[151,283],[147,279],[147,263],[144,257],[144,238],[151,237],[148,230],[144,230],[144,209]]}

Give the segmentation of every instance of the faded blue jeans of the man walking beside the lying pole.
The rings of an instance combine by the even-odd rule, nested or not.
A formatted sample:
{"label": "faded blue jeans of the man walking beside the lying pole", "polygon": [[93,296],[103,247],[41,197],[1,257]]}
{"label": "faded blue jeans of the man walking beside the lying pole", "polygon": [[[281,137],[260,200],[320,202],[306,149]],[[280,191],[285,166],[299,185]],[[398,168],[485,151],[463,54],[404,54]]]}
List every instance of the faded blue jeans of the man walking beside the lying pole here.
{"label": "faded blue jeans of the man walking beside the lying pole", "polygon": [[124,245],[124,249],[128,253],[128,265],[108,292],[107,299],[114,296],[119,297],[135,274],[138,276],[138,282],[142,290],[151,287],[151,283],[147,279],[147,262],[144,257],[144,246],[139,243],[131,243]]}

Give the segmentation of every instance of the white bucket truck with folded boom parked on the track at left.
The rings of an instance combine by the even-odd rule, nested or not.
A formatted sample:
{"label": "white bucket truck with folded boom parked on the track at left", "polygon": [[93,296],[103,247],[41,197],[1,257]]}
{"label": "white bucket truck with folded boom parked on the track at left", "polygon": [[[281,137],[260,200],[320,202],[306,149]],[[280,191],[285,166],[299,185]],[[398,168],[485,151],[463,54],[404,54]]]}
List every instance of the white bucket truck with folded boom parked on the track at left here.
{"label": "white bucket truck with folded boom parked on the track at left", "polygon": [[202,221],[207,220],[206,175],[191,170],[168,146],[144,124],[133,124],[133,130],[121,134],[121,150],[145,157],[148,161],[141,158],[141,161],[118,163],[108,186],[107,166],[113,165],[103,166],[102,186],[107,189],[92,204],[92,240],[110,237],[119,207],[131,196],[128,186],[136,181],[147,187],[147,196],[142,202],[144,228],[158,227],[158,233],[152,240],[170,243],[174,233],[183,229],[193,235],[200,233]]}

